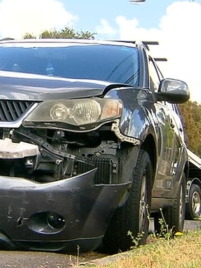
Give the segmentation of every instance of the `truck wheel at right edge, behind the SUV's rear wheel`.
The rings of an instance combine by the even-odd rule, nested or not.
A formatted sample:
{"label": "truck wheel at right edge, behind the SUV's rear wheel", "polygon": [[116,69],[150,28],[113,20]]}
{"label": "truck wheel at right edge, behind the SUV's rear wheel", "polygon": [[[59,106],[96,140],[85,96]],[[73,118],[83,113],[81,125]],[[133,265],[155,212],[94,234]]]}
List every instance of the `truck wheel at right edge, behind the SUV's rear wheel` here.
{"label": "truck wheel at right edge, behind the SUV's rear wheel", "polygon": [[201,213],[201,189],[199,185],[192,184],[189,189],[189,202],[186,204],[186,219],[194,220]]}

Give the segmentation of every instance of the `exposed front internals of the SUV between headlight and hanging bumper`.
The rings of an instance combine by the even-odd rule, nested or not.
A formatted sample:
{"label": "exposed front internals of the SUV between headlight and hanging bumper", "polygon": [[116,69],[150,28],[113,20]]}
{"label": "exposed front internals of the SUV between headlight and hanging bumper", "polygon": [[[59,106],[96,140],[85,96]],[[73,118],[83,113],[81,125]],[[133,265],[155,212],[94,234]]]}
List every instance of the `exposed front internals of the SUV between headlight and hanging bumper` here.
{"label": "exposed front internals of the SUV between headlight and hanging bumper", "polygon": [[0,163],[4,168],[0,175],[45,183],[71,178],[97,167],[95,184],[119,183],[120,143],[111,132],[111,124],[87,133],[23,127],[3,129],[1,138]]}

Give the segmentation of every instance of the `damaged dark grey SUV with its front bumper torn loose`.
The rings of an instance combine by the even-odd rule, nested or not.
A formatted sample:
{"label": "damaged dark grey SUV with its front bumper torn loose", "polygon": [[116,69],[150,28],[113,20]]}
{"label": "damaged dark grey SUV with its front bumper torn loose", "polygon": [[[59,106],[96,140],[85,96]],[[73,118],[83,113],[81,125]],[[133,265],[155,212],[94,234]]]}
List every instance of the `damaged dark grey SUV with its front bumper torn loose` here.
{"label": "damaged dark grey SUV with its front bumper torn loose", "polygon": [[188,157],[146,42],[0,42],[0,248],[128,250],[163,208],[182,230]]}

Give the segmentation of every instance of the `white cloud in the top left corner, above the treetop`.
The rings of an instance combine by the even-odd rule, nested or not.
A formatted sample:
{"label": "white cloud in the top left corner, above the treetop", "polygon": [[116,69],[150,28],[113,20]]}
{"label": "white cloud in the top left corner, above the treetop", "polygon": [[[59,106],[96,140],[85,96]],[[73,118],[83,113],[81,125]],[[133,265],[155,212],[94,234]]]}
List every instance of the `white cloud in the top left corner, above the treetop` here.
{"label": "white cloud in the top left corner, above the treetop", "polygon": [[2,0],[0,34],[21,38],[26,32],[64,27],[76,20],[57,0]]}

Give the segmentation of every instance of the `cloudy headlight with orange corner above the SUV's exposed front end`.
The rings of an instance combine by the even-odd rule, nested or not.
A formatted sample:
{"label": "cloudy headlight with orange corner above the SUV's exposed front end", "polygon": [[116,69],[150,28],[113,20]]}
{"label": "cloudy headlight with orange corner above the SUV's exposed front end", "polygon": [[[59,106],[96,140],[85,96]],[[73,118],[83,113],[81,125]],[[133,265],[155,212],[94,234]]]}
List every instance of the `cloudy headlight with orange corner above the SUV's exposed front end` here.
{"label": "cloudy headlight with orange corner above the SUV's exposed front end", "polygon": [[51,100],[39,104],[23,121],[25,127],[88,130],[119,118],[123,105],[114,99]]}

